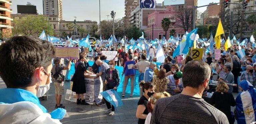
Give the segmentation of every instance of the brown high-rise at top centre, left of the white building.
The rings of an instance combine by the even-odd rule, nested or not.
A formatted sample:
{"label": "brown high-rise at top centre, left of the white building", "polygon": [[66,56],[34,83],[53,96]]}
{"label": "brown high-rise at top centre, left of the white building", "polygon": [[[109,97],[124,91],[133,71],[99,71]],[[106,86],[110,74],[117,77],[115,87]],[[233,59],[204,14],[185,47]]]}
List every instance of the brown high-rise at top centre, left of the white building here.
{"label": "brown high-rise at top centre, left of the white building", "polygon": [[140,0],[125,0],[124,1],[124,26],[130,26],[130,15],[133,10],[139,5]]}

